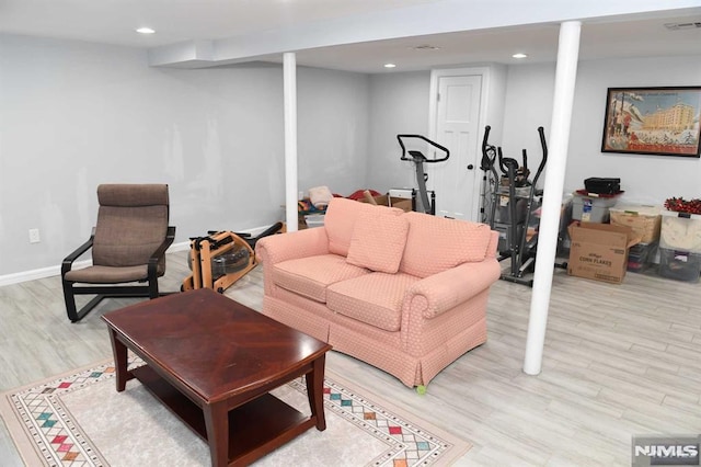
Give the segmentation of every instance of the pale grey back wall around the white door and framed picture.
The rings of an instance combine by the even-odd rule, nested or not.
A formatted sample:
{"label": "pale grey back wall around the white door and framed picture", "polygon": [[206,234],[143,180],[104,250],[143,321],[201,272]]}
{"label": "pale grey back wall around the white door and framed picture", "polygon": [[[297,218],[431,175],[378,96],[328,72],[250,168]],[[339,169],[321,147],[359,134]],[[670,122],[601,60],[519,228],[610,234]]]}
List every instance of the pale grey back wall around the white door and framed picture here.
{"label": "pale grey back wall around the white door and framed picture", "polygon": [[[467,66],[467,65],[466,65]],[[535,170],[541,160],[538,126],[550,133],[555,64],[514,65],[507,69],[504,121],[489,122],[492,144],[520,160],[521,149]],[[625,193],[621,202],[662,205],[671,196],[701,197],[701,159],[601,152],[606,92],[617,87],[701,86],[701,56],[581,61],[565,174],[565,191],[584,187],[589,176],[617,176]],[[426,73],[371,78],[369,155],[375,171],[368,181],[380,187],[412,183],[413,173],[397,166],[394,135],[428,130]],[[498,104],[501,105],[501,103]],[[501,143],[498,132],[501,130]],[[547,169],[545,169],[547,170]],[[543,178],[544,179],[544,178]],[[541,180],[543,180],[541,179]],[[542,182],[540,183],[542,186]]]}

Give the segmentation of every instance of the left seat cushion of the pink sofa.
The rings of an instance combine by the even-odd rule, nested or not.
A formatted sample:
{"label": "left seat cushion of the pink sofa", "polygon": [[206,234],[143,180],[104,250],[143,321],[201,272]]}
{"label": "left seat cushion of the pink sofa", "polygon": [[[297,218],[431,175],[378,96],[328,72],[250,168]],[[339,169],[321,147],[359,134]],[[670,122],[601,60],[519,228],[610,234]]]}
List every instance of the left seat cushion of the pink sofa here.
{"label": "left seat cushion of the pink sofa", "polygon": [[344,257],[320,254],[277,263],[273,265],[272,277],[278,287],[324,303],[330,284],[368,273],[364,267],[346,263]]}

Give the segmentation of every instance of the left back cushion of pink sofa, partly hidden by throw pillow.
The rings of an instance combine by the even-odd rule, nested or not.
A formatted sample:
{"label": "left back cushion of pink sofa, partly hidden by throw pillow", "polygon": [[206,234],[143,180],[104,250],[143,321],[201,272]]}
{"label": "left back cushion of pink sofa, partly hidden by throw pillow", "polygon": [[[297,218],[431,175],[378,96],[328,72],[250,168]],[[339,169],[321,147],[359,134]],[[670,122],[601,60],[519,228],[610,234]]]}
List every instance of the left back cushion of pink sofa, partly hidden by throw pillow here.
{"label": "left back cushion of pink sofa, partly hidden by throw pillow", "polygon": [[397,215],[402,214],[402,209],[399,208],[374,206],[343,197],[334,197],[331,200],[329,207],[326,207],[326,215],[324,216],[324,228],[329,237],[329,251],[347,257],[358,215],[363,212],[372,212],[372,209],[395,213]]}

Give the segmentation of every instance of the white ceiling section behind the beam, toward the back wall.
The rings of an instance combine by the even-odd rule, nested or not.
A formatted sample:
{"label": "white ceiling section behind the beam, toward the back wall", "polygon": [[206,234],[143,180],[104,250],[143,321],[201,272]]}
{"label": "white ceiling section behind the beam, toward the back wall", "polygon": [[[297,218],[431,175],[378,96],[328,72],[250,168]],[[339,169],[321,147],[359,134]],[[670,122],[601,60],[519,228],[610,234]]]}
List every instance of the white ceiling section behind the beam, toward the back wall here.
{"label": "white ceiling section behind the beam, toward the back wall", "polygon": [[[693,18],[701,22],[701,14]],[[701,27],[669,31],[664,26],[683,21],[688,22],[689,18],[585,23],[582,26],[579,59],[701,55]],[[395,62],[402,70],[456,64],[554,62],[559,34],[558,24],[466,31],[303,50],[298,53],[298,61],[370,73],[383,72],[386,62]],[[438,49],[421,48],[424,45]],[[526,53],[528,58],[513,58],[516,53]]]}

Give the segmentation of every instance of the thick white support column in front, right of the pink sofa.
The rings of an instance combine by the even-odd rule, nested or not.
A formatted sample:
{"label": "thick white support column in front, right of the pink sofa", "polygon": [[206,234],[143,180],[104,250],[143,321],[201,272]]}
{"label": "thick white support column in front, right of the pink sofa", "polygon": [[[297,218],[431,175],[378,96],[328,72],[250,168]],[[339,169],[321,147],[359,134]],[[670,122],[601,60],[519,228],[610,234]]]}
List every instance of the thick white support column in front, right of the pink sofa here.
{"label": "thick white support column in front, right of the pink sofa", "polygon": [[524,358],[524,372],[529,375],[538,375],[540,373],[543,360],[548,307],[550,305],[553,265],[558,249],[560,207],[562,205],[567,146],[570,144],[570,124],[579,56],[581,29],[582,23],[578,21],[567,21],[560,25],[555,93],[548,148],[548,171],[543,185],[542,215],[538,231],[538,255],[536,257],[533,293],[530,301],[526,357]]}

